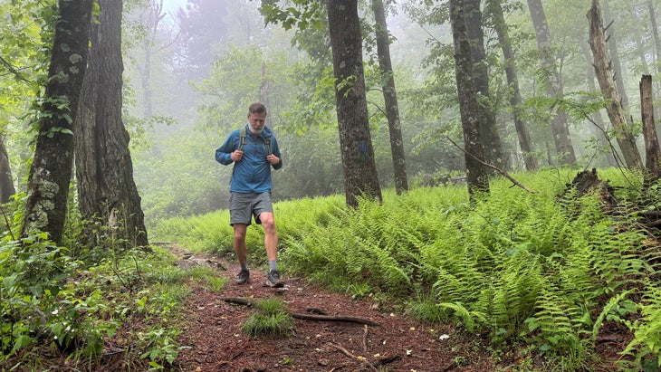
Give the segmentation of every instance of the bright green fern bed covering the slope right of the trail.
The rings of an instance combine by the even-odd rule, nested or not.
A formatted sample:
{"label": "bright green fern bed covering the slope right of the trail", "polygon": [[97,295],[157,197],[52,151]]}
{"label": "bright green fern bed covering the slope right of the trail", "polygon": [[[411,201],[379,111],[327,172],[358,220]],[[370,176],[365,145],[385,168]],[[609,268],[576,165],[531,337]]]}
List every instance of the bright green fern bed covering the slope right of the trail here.
{"label": "bright green fern bed covering the slope right of the trail", "polygon": [[[661,261],[656,238],[627,211],[641,197],[639,183],[630,184],[637,177],[600,174],[619,187],[624,211],[613,218],[597,196],[558,197],[573,176],[557,170],[516,175],[534,193],[493,179],[490,196],[474,205],[465,186],[402,196],[388,191],[382,205],[363,200],[356,210],[341,196],[281,202],[275,205],[280,261],[287,273],[335,291],[373,294],[384,299],[383,307],[418,320],[452,321],[488,335],[494,349],[525,345],[544,368],[611,363],[596,359],[606,324],[632,338],[619,368],[659,367]],[[231,241],[216,236],[231,236],[227,221],[226,212],[218,212],[165,221],[158,231],[164,239],[226,253]],[[249,231],[251,260],[263,262],[263,235]],[[205,236],[213,242],[200,242]]]}

